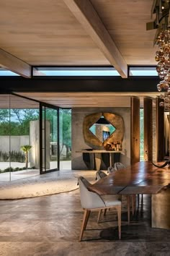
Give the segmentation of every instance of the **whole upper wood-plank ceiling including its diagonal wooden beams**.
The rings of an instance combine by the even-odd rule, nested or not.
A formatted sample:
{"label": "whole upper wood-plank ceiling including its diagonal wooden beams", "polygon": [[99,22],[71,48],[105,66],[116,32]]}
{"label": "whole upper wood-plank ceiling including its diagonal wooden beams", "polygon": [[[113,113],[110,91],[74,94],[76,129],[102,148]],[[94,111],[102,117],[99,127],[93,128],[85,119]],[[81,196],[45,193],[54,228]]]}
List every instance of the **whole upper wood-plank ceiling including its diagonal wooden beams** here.
{"label": "whole upper wood-plank ceiling including its diagonal wooden beams", "polygon": [[1,0],[0,66],[155,65],[153,0]]}

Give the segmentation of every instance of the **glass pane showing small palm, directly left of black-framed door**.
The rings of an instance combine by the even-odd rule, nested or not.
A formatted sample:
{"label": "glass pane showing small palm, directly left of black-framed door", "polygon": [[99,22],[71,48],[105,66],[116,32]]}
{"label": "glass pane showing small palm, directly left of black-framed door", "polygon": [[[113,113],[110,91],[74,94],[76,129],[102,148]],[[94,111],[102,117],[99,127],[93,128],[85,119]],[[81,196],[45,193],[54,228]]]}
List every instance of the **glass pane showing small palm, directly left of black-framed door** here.
{"label": "glass pane showing small palm, directly left of black-framed door", "polygon": [[10,95],[11,180],[40,174],[39,103]]}

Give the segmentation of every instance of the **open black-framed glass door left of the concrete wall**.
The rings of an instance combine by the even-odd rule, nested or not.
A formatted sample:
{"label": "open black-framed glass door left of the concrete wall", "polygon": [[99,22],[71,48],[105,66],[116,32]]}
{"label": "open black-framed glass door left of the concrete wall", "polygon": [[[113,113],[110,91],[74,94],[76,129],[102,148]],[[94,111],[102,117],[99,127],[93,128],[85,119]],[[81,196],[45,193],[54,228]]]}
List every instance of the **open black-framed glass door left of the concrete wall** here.
{"label": "open black-framed glass door left of the concrete wall", "polygon": [[59,169],[58,108],[40,103],[40,172]]}

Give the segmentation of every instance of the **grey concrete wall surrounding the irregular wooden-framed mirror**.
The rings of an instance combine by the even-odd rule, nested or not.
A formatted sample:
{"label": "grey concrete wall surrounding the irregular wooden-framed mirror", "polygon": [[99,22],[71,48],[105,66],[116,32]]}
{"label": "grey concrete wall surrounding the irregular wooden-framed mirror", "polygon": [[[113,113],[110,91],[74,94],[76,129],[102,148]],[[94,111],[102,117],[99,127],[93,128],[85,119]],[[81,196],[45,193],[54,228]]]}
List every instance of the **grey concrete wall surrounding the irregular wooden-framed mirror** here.
{"label": "grey concrete wall surrounding the irregular wooden-framed mirror", "polygon": [[72,148],[71,148],[71,168],[73,170],[86,170],[86,164],[83,161],[82,153],[76,153],[76,150],[89,148],[84,142],[83,121],[84,117],[97,113],[109,112],[122,116],[125,124],[125,134],[122,141],[122,150],[120,161],[126,166],[130,165],[130,108],[72,108]]}

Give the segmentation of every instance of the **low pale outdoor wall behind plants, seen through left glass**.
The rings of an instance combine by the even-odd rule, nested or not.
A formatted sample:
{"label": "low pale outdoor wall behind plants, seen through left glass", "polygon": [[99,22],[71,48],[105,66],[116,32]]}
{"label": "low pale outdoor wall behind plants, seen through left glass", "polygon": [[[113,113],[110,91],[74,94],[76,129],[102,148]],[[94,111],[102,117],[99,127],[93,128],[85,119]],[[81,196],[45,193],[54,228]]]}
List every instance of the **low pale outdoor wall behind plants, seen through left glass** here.
{"label": "low pale outdoor wall behind plants, seen through left glass", "polygon": [[21,146],[30,144],[30,136],[0,136],[0,150],[3,152],[9,152],[9,138],[10,138],[10,150],[19,151]]}

